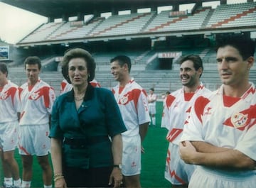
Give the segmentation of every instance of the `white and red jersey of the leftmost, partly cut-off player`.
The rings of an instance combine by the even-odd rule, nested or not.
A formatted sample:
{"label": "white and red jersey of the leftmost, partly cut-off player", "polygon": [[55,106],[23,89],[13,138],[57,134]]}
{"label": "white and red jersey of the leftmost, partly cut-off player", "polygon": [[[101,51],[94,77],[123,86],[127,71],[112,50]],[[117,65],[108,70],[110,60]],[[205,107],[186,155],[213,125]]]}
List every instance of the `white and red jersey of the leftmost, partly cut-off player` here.
{"label": "white and red jersey of the leftmost, partly cut-off player", "polygon": [[8,81],[0,87],[0,123],[18,120],[18,86]]}

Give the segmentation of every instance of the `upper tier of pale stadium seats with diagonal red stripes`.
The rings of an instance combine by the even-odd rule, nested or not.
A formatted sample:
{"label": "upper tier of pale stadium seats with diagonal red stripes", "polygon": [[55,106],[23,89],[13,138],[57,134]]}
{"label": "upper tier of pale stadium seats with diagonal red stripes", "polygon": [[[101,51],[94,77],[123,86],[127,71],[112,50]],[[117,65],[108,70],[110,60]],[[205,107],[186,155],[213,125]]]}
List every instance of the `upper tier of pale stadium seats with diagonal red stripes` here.
{"label": "upper tier of pale stadium seats with diagonal red stripes", "polygon": [[72,26],[71,21],[45,23],[21,40],[18,45],[41,41],[97,38],[116,35],[134,35],[170,31],[203,31],[215,28],[239,28],[256,26],[256,2],[223,4],[216,9],[197,7],[186,16],[170,16],[170,11],[156,13],[131,13],[96,17],[82,26]]}

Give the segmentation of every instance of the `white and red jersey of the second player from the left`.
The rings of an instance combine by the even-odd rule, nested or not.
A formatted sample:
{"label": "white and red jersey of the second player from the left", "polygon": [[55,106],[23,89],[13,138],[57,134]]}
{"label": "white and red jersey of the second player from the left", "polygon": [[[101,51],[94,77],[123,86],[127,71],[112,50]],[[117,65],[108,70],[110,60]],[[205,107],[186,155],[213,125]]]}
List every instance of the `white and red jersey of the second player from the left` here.
{"label": "white and red jersey of the second player from the left", "polygon": [[55,101],[53,87],[38,79],[33,88],[28,87],[28,82],[19,87],[21,101],[20,125],[40,125],[49,122],[49,115]]}

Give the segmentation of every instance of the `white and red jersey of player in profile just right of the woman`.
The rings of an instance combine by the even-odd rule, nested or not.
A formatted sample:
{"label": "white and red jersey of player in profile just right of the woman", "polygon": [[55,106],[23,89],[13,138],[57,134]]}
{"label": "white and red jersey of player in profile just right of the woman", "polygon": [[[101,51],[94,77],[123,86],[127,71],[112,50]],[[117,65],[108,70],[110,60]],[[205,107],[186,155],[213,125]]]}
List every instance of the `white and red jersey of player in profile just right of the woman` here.
{"label": "white and red jersey of player in profile just right of the woman", "polygon": [[116,87],[112,88],[112,92],[127,127],[127,131],[122,135],[137,136],[139,125],[150,122],[145,89],[142,89],[132,78],[123,89],[120,89],[119,84],[117,84]]}

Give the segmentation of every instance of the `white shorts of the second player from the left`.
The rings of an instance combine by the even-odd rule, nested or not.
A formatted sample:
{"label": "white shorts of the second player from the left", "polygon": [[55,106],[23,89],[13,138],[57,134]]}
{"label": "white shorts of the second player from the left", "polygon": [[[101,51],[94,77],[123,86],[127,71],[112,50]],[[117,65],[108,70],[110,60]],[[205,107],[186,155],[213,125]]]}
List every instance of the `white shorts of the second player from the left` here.
{"label": "white shorts of the second player from the left", "polygon": [[49,124],[20,126],[18,151],[20,155],[45,156],[50,153]]}

